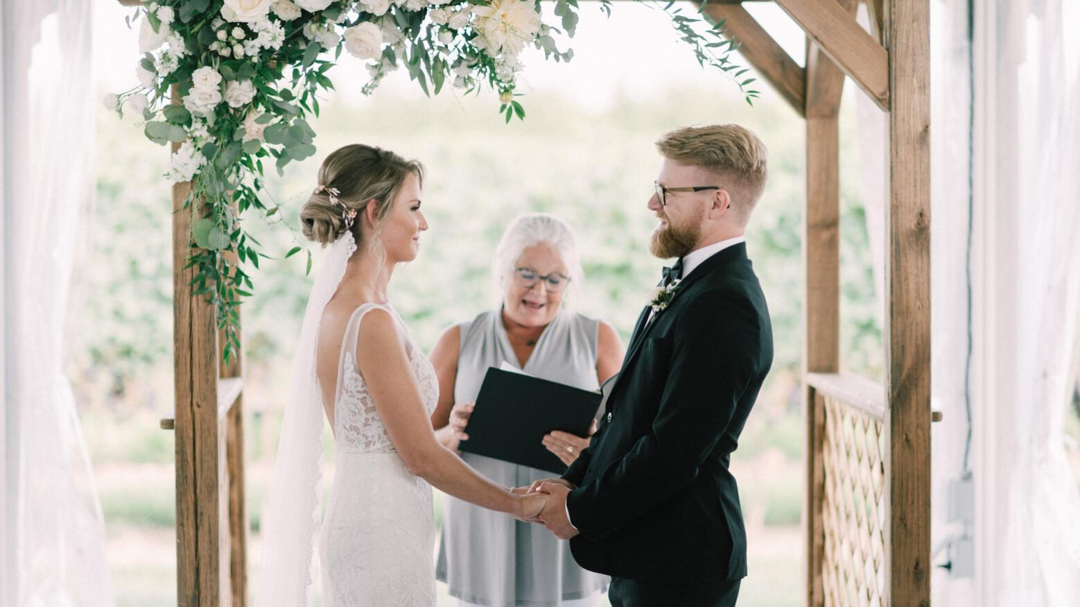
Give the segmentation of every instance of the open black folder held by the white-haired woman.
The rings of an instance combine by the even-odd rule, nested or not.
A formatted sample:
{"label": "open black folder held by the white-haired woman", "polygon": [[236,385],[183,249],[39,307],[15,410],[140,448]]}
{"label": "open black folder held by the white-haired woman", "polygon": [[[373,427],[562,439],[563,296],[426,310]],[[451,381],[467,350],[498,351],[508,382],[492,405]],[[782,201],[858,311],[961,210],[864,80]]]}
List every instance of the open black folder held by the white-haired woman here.
{"label": "open black folder held by the white-haired woman", "polygon": [[543,446],[544,434],[586,436],[599,405],[599,392],[490,367],[458,448],[562,474],[566,464]]}

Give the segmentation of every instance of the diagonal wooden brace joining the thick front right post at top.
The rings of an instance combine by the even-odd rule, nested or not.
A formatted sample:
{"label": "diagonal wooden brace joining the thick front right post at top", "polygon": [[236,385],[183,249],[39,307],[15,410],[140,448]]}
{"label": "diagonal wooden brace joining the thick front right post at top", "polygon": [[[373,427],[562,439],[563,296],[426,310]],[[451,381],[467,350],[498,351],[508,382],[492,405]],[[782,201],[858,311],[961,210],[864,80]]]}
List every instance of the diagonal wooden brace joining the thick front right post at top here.
{"label": "diagonal wooden brace joining the thick front right post at top", "polygon": [[836,0],[777,0],[881,109],[889,109],[889,54]]}

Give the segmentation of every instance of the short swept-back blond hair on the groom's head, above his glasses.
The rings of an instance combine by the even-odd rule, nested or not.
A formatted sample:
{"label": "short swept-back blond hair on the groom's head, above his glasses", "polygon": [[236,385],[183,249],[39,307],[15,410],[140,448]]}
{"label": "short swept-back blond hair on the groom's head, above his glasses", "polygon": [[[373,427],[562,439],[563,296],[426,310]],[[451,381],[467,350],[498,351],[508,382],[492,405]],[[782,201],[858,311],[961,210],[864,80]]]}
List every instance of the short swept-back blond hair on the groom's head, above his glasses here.
{"label": "short swept-back blond hair on the groom's head, above his glasses", "polygon": [[686,126],[665,133],[657,149],[667,160],[713,173],[718,180],[715,185],[731,197],[731,211],[746,225],[768,177],[769,151],[757,135],[738,124]]}

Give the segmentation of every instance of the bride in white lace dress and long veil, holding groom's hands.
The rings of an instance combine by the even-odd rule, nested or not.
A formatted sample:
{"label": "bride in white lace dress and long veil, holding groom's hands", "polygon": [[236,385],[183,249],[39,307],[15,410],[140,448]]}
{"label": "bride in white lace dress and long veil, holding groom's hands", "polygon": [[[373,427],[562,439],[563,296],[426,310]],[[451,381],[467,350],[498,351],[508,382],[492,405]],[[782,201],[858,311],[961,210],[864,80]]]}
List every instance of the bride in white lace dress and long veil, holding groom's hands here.
{"label": "bride in white lace dress and long veil, holding groom's hands", "polygon": [[[300,211],[305,235],[332,246],[300,331],[258,606],[308,604],[318,532],[325,607],[431,607],[432,486],[522,520],[543,508],[546,496],[514,494],[484,478],[432,430],[435,372],[387,299],[394,268],[416,258],[428,229],[422,181],[418,162],[350,145],[326,158]],[[321,515],[323,410],[337,453]]]}

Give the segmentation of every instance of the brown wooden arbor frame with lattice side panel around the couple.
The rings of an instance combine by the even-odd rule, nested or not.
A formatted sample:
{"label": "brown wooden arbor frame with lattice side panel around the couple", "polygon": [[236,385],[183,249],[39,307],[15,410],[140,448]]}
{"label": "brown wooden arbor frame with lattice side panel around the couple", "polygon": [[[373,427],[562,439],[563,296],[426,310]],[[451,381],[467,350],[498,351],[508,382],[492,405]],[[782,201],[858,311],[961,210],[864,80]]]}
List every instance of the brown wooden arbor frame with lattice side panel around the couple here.
{"label": "brown wooden arbor frame with lattice side panel around the couple", "polygon": [[[859,2],[870,31],[855,22]],[[806,119],[805,604],[929,605],[929,0],[775,3],[807,35],[805,66],[741,1],[711,0],[703,13],[725,22],[746,60]],[[889,113],[885,386],[840,373],[845,77]],[[190,184],[173,188],[176,413],[162,420],[176,431],[178,604],[244,605],[242,363],[221,363],[215,311],[191,296],[189,192]]]}

